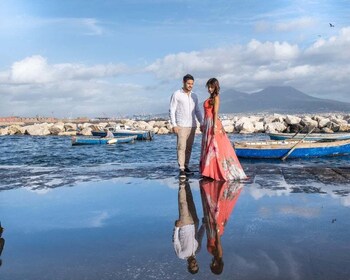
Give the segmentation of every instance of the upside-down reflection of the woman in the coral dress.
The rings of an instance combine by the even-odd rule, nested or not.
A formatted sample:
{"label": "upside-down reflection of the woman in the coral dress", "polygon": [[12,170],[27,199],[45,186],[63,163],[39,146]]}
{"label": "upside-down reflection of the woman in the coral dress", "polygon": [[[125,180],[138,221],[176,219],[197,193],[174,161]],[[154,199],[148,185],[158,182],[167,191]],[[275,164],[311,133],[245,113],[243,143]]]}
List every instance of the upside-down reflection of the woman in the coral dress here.
{"label": "upside-down reflection of the woman in the coral dress", "polygon": [[242,190],[242,183],[202,179],[200,190],[203,204],[203,222],[207,231],[207,249],[213,255],[210,269],[221,274],[224,269],[221,236]]}

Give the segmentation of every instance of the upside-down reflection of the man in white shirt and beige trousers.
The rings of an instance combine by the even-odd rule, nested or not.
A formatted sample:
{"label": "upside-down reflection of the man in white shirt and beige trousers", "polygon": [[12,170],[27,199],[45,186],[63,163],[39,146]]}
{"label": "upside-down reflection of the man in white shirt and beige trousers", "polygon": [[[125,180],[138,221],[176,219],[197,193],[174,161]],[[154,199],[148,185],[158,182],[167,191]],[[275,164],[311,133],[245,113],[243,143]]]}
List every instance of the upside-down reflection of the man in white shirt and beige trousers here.
{"label": "upside-down reflection of the man in white shirt and beige trousers", "polygon": [[198,217],[196,206],[193,202],[190,184],[179,184],[179,219],[175,221],[173,233],[173,245],[176,255],[180,259],[187,260],[187,269],[195,274],[199,270],[196,253],[200,250],[204,234],[204,226],[198,230]]}

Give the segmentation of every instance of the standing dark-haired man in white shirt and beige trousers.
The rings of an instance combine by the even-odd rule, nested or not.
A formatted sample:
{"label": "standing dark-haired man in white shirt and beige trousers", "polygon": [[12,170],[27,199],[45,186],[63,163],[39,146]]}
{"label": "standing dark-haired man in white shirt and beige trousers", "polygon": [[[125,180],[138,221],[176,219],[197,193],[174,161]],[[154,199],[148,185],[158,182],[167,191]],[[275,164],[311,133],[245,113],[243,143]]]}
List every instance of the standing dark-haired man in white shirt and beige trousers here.
{"label": "standing dark-haired man in white shirt and beige trousers", "polygon": [[202,123],[202,114],[198,106],[198,97],[192,92],[194,78],[187,74],[183,77],[182,89],[173,93],[170,100],[170,121],[177,135],[177,160],[180,179],[192,173],[188,168],[194,136],[197,128],[196,118]]}

